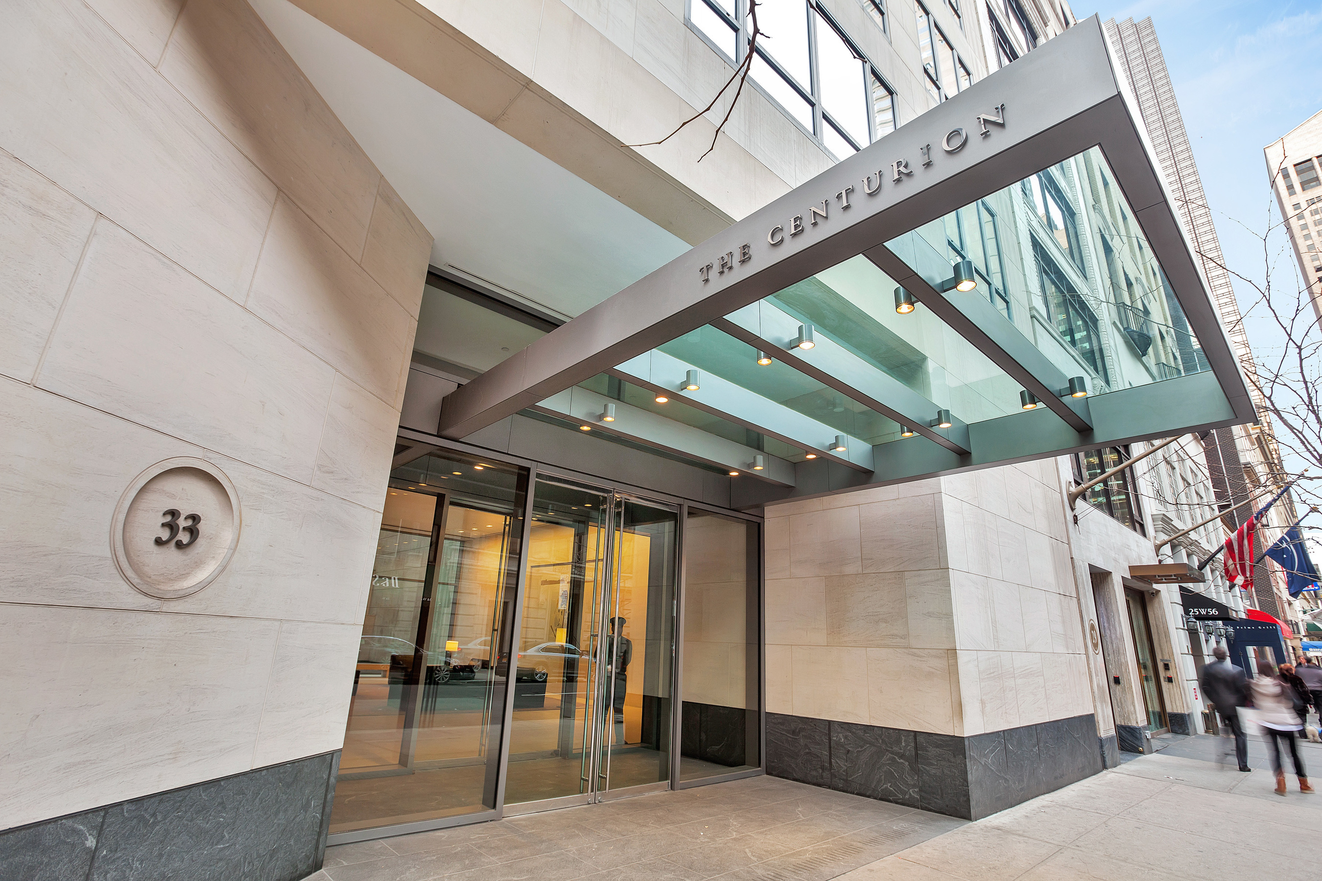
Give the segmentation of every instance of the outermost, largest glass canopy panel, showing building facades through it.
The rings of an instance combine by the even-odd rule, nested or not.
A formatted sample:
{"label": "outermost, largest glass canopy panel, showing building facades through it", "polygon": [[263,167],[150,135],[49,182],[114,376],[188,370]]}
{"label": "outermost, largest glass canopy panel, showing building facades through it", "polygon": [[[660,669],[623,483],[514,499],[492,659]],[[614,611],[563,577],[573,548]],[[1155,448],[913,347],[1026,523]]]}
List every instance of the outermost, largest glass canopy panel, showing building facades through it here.
{"label": "outermost, largest glass canopy panel, showing building facades through it", "polygon": [[972,260],[977,288],[952,301],[992,302],[1066,376],[1085,376],[1089,394],[1210,370],[1097,148],[887,247],[937,289],[939,275]]}

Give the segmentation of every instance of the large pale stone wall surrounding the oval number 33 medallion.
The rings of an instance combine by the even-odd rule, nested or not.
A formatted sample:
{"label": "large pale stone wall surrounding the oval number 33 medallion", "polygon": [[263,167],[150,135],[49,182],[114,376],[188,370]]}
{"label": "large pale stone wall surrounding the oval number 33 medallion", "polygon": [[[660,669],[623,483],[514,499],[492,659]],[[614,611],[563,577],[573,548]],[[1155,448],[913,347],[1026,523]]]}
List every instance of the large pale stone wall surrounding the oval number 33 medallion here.
{"label": "large pale stone wall surrounding the oval number 33 medallion", "polygon": [[[337,749],[431,235],[243,0],[0,9],[0,828]],[[107,540],[189,456],[227,568]]]}

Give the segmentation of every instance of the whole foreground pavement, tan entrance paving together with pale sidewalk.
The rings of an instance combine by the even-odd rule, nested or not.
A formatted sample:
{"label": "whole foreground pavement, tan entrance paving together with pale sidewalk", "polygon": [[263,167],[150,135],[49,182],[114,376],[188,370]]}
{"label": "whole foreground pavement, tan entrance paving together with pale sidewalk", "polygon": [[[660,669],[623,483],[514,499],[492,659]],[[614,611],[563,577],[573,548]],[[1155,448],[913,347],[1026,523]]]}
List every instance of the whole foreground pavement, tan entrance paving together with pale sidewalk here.
{"label": "whole foreground pavement, tan entrance paving together with pale sidewalk", "polygon": [[[755,777],[346,844],[317,881],[1177,881],[1318,865],[1322,795],[1272,793],[1216,737],[1163,741],[976,823]],[[1322,778],[1322,745],[1300,744]],[[311,880],[309,880],[311,881]]]}

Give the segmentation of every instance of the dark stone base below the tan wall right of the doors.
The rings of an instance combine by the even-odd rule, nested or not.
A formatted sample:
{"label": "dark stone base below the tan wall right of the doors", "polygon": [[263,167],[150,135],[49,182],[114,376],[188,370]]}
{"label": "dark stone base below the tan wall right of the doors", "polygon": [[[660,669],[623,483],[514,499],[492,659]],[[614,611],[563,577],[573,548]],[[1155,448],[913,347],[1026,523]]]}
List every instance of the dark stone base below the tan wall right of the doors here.
{"label": "dark stone base below the tan wall right of the doors", "polygon": [[768,774],[969,820],[1101,769],[1092,715],[954,737],[767,713]]}

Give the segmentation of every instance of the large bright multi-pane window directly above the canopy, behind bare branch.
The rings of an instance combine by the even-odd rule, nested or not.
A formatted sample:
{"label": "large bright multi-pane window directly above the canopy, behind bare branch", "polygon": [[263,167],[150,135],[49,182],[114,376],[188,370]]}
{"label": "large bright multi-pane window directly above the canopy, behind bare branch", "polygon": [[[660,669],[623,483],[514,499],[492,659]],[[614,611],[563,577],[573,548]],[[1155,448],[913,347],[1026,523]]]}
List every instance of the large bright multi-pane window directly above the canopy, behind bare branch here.
{"label": "large bright multi-pane window directly above the canopy, behind bare branch", "polygon": [[[880,0],[866,5],[884,28]],[[689,0],[689,22],[735,65],[752,36],[751,0]],[[895,90],[818,0],[758,4],[750,78],[785,114],[843,159],[895,131]]]}

